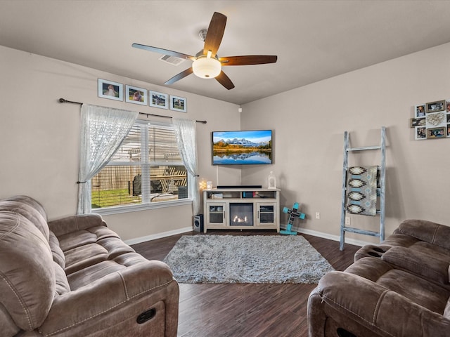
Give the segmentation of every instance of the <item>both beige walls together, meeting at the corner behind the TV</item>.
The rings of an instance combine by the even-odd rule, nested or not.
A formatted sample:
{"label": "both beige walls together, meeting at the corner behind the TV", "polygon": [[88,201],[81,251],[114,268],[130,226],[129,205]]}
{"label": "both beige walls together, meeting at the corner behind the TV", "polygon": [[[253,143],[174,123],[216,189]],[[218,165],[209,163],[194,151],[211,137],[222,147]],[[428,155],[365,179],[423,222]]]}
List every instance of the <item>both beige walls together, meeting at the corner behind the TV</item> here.
{"label": "both beige walls together, meeting at the corner behind the TV", "polygon": [[[262,100],[238,106],[170,87],[15,51],[0,46],[0,198],[28,194],[46,207],[49,218],[72,215],[77,206],[79,107],[58,98],[140,112],[179,112],[97,97],[97,79],[151,88],[188,99],[198,124],[200,178],[214,186],[266,185],[269,171],[281,187],[281,208],[295,201],[307,214],[303,230],[337,237],[340,225],[343,133],[353,146],[379,142],[387,127],[387,228],[405,218],[446,223],[450,218],[450,139],[413,140],[413,105],[450,98],[450,44],[383,62]],[[218,89],[220,90],[220,89]],[[238,88],[233,89],[238,90]],[[165,120],[165,119],[161,119]],[[210,132],[245,128],[274,130],[271,166],[212,166]],[[357,155],[350,164],[378,164],[375,155]],[[242,171],[242,172],[241,172]],[[315,212],[321,219],[314,219]],[[375,230],[378,217],[351,216],[352,225]],[[136,239],[191,226],[191,206],[105,216],[123,239]],[[282,223],[287,217],[282,213]],[[349,239],[375,238],[347,234]]]}

